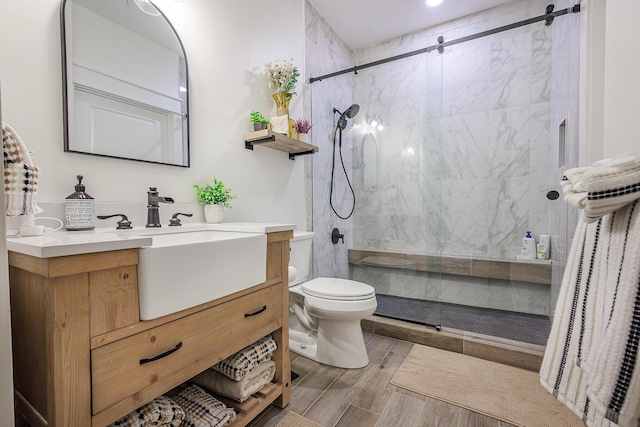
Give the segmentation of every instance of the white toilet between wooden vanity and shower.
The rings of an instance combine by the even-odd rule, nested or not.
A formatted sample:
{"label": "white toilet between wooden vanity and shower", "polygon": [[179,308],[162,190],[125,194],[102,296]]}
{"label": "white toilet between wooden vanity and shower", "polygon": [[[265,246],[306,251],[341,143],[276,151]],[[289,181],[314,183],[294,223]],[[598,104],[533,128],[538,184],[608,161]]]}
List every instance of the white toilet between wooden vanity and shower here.
{"label": "white toilet between wooden vanity and shower", "polygon": [[307,282],[314,233],[294,231],[289,261],[289,348],[316,362],[362,368],[369,357],[360,321],[376,311],[375,289],[345,279]]}

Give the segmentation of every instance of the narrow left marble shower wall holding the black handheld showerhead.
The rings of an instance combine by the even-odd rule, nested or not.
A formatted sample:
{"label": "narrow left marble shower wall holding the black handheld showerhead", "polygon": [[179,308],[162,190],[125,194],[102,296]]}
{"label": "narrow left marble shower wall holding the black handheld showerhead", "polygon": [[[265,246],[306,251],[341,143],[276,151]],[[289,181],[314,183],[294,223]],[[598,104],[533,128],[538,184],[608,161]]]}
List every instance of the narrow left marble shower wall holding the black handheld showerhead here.
{"label": "narrow left marble shower wall holding the black handheld showerhead", "polygon": [[[305,73],[317,76],[324,70],[338,70],[353,63],[351,49],[340,39],[318,12],[306,2],[305,9]],[[313,156],[305,156],[307,171],[307,188],[312,189],[308,194],[307,203],[311,218],[307,224],[312,224],[316,233],[313,242],[313,273],[314,277],[349,277],[347,262],[347,247],[352,246],[352,219],[341,220],[335,216],[329,205],[331,188],[331,164],[334,130],[333,108],[344,111],[352,104],[354,78],[345,75],[333,79],[316,82],[306,87],[307,95],[311,95],[311,105],[305,106],[305,116],[311,117],[311,143],[319,147],[319,152]],[[309,98],[309,96],[307,96]],[[343,135],[343,146],[351,145],[351,132]],[[351,179],[351,150],[343,150],[345,169]],[[351,191],[344,178],[340,163],[336,165],[334,182],[334,206],[341,216],[346,216],[351,210]],[[309,209],[309,208],[308,208]],[[345,244],[334,245],[331,242],[331,230],[338,227],[345,235]]]}

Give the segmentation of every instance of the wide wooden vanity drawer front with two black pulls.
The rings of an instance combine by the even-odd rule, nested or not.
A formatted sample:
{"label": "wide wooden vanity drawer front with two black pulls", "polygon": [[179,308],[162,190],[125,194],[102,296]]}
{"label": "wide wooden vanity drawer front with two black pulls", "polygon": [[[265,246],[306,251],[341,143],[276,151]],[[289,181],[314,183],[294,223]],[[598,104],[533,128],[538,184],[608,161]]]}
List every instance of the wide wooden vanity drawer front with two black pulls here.
{"label": "wide wooden vanity drawer front with two black pulls", "polygon": [[278,284],[96,348],[92,412],[144,389],[164,393],[281,326]]}

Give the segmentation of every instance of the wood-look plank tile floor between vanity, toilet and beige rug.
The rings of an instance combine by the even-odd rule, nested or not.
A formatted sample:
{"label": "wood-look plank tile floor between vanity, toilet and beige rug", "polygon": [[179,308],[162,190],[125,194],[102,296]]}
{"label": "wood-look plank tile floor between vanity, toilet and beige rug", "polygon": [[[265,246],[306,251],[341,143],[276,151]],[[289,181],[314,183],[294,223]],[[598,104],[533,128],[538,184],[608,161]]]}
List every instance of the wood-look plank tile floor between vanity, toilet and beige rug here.
{"label": "wood-look plank tile floor between vanity, toilet and beige rug", "polygon": [[364,332],[369,365],[339,369],[291,353],[291,402],[270,407],[249,427],[274,427],[288,411],[323,427],[514,427],[391,384],[412,343]]}

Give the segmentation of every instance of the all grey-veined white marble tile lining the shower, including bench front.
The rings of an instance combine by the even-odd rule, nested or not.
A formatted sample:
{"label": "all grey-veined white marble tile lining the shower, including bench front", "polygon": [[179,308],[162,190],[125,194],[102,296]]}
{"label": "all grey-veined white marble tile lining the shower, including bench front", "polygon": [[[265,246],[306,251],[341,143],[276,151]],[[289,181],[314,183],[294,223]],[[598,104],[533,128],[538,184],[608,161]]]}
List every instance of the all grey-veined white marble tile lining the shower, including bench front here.
{"label": "all grey-veined white marble tile lining the shower, including bench front", "polygon": [[[540,15],[545,6],[536,0],[511,2],[350,52],[307,3],[307,73],[432,45],[438,35],[451,40],[495,28]],[[553,210],[545,194],[558,182],[557,126],[567,115],[575,121],[568,132],[577,136],[577,109],[571,110],[577,102],[569,93],[571,84],[577,90],[577,79],[568,72],[579,63],[577,49],[569,48],[570,31],[577,27],[572,20],[529,25],[447,47],[443,54],[418,55],[310,85],[313,143],[321,148],[308,178],[316,233],[339,226],[353,247],[513,258],[524,232],[532,230],[536,238],[552,234],[557,254],[566,252],[568,233],[561,218],[567,210]],[[357,205],[353,219],[342,221],[327,203],[331,109],[353,102],[361,109],[345,132],[343,154]],[[368,127],[371,115],[383,119],[384,131]],[[577,139],[568,145],[567,160],[575,163]],[[350,206],[346,181],[335,182],[337,205]],[[316,276],[348,277],[341,264],[346,264],[346,248],[327,240],[314,242]],[[381,282],[384,292],[435,298],[424,291],[424,277],[378,270],[384,269],[352,267],[351,275]],[[553,302],[548,287],[472,280],[463,290],[455,280],[437,280],[442,280],[443,301],[458,298],[538,314],[549,314]]]}

